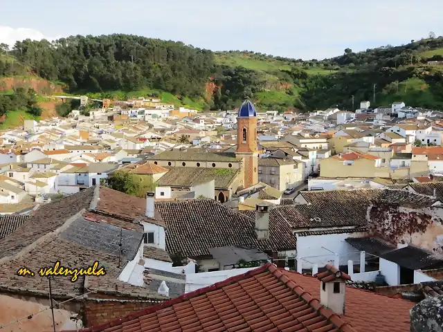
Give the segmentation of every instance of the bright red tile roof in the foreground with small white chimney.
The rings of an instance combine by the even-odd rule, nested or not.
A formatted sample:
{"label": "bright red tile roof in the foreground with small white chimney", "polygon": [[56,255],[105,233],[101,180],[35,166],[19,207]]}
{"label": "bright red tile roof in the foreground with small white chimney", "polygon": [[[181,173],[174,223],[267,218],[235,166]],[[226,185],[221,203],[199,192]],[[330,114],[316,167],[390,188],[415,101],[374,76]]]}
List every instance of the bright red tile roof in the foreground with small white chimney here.
{"label": "bright red tile roof in the foreground with small white chimney", "polygon": [[[404,332],[413,302],[347,287],[345,315],[319,302],[318,279],[266,264],[82,332]],[[67,331],[66,331],[67,332]]]}

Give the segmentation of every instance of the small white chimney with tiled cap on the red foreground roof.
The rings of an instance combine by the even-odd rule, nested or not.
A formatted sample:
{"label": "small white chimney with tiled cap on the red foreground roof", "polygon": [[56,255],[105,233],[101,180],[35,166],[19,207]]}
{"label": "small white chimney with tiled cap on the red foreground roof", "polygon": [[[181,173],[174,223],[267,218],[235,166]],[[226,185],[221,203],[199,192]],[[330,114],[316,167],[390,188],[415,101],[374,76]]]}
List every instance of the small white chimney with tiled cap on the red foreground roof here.
{"label": "small white chimney with tiled cap on the red foreground roof", "polygon": [[325,272],[315,275],[320,280],[320,304],[331,309],[337,315],[345,315],[345,282],[351,277],[331,264],[327,264],[325,268]]}

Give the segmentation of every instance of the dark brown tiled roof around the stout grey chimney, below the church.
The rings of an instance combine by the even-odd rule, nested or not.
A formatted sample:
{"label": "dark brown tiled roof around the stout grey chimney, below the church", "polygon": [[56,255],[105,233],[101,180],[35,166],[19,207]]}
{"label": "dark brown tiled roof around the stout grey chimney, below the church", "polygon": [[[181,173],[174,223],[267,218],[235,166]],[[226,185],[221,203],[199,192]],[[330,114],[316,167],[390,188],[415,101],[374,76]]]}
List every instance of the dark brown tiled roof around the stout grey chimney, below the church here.
{"label": "dark brown tiled roof around the stout grey chimney, below the church", "polygon": [[254,211],[240,213],[213,199],[156,203],[156,209],[168,227],[166,250],[171,255],[181,251],[187,257],[201,257],[210,255],[210,248],[224,246],[272,252],[296,248],[286,222],[270,220],[269,239],[258,240]]}

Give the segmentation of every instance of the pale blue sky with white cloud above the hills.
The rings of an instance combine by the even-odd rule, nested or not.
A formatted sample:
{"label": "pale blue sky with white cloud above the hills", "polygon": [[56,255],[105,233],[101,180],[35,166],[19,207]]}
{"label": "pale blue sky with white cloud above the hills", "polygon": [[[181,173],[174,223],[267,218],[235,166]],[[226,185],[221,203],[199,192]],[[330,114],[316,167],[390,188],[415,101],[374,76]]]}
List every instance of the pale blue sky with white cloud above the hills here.
{"label": "pale blue sky with white cloud above the hills", "polygon": [[126,33],[324,59],[443,35],[442,0],[0,0],[0,43]]}

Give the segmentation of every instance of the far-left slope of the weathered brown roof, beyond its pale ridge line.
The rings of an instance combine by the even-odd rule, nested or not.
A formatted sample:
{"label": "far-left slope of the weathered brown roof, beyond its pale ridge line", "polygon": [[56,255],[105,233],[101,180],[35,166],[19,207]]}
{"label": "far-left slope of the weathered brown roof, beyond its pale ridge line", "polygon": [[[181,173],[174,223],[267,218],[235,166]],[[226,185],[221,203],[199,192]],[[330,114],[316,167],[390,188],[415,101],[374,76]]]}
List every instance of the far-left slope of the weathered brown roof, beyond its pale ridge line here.
{"label": "far-left slope of the weathered brown roof, beyond its pale ridge line", "polygon": [[60,201],[40,206],[16,232],[0,239],[0,259],[15,255],[40,237],[55,231],[82,209],[88,209],[93,196],[94,188],[90,187]]}

